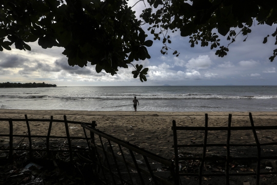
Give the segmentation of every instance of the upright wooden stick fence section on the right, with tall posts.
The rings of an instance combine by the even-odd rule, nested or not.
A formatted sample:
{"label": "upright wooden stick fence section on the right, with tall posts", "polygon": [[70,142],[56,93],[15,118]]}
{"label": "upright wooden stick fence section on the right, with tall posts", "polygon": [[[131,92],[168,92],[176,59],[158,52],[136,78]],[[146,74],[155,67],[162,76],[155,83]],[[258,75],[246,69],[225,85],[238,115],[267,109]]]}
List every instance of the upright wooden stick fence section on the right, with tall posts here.
{"label": "upright wooden stick fence section on the right, with tall posts", "polygon": [[[196,126],[176,126],[175,120],[172,121],[172,130],[173,130],[173,142],[174,142],[174,160],[175,160],[175,174],[177,177],[180,176],[196,176],[199,177],[199,184],[202,184],[202,177],[207,176],[225,176],[226,184],[229,184],[230,176],[256,176],[256,185],[260,184],[260,175],[268,175],[268,174],[277,174],[277,172],[260,172],[261,160],[265,159],[277,159],[277,156],[265,156],[261,157],[261,146],[268,145],[277,145],[277,142],[271,143],[260,143],[259,138],[256,134],[256,130],[277,130],[276,126],[254,126],[252,114],[249,113],[251,126],[231,126],[231,118],[232,115],[229,114],[228,118],[228,126],[225,127],[208,127],[208,114],[205,114],[205,126],[204,127],[196,127]],[[253,136],[255,139],[255,144],[230,144],[231,131],[245,131],[251,130],[253,132]],[[204,143],[203,144],[178,144],[177,142],[177,131],[205,131],[204,135]],[[227,131],[227,142],[226,143],[216,143],[216,144],[207,144],[207,136],[208,131]],[[225,174],[203,174],[203,165],[205,160],[218,159],[216,157],[206,157],[206,148],[210,146],[225,146],[226,147],[226,156],[225,156]],[[233,157],[230,155],[230,147],[231,146],[255,146],[257,147],[257,156],[256,157]],[[202,157],[179,157],[178,150],[181,147],[203,147]],[[199,173],[180,173],[179,172],[179,161],[180,160],[201,160]],[[229,162],[233,160],[256,160],[256,173],[229,173]],[[176,184],[179,184],[180,178],[176,178]]]}

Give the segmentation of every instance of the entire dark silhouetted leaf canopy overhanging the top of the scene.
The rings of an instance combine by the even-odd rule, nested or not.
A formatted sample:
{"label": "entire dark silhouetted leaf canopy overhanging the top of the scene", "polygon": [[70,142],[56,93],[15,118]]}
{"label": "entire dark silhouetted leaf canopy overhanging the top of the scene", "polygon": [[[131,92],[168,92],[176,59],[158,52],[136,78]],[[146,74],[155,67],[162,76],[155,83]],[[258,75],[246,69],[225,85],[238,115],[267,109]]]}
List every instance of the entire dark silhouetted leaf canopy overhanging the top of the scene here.
{"label": "entire dark silhouetted leaf canopy overhanging the top of the scene", "polygon": [[[142,0],[141,0],[142,1]],[[70,66],[95,65],[111,75],[118,67],[150,59],[146,30],[153,40],[162,40],[161,53],[167,54],[171,43],[168,31],[180,30],[189,36],[191,47],[195,44],[219,47],[215,54],[224,57],[228,46],[221,46],[219,34],[227,36],[230,44],[238,34],[245,40],[253,23],[272,26],[277,21],[275,0],[147,0],[150,8],[143,10],[137,20],[132,7],[125,0],[2,0],[0,1],[0,51],[31,50],[27,44],[38,42],[44,49],[63,47]],[[144,2],[146,3],[146,2]],[[217,30],[217,32],[213,32]],[[272,33],[276,38],[277,31]],[[269,35],[265,35],[263,43]],[[179,55],[174,50],[173,54]],[[277,49],[269,58],[273,61]],[[136,65],[133,77],[146,81],[148,68]]]}

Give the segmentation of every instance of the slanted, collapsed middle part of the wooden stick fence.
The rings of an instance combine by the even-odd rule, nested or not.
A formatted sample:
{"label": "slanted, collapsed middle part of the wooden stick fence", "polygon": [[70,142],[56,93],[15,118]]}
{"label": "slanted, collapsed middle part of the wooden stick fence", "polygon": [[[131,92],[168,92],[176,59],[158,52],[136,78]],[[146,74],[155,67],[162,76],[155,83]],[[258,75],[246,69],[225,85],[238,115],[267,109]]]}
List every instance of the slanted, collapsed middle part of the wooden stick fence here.
{"label": "slanted, collapsed middle part of the wooden stick fence", "polygon": [[[174,167],[174,164],[172,161],[165,159],[161,156],[158,156],[156,154],[153,154],[151,152],[148,152],[144,149],[141,149],[140,147],[130,144],[127,141],[123,141],[123,140],[115,138],[109,134],[103,133],[95,128],[88,127],[85,124],[82,124],[81,126],[84,128],[85,136],[87,135],[86,130],[88,130],[91,134],[93,133],[93,135],[97,135],[99,137],[99,141],[100,141],[99,144],[101,144],[101,147],[97,146],[97,144],[95,143],[96,139],[94,139],[93,137],[92,137],[91,142],[89,142],[89,140],[87,138],[87,142],[88,142],[88,145],[90,146],[90,150],[95,151],[95,153],[96,153],[96,156],[93,160],[96,164],[99,165],[99,168],[102,170],[103,183],[106,182],[106,184],[109,184],[109,183],[111,183],[110,181],[112,181],[113,184],[116,184],[115,181],[117,179],[117,180],[120,180],[121,184],[124,184],[124,183],[134,184],[134,182],[133,182],[134,177],[132,177],[130,175],[130,170],[129,170],[129,168],[133,168],[136,170],[136,174],[137,174],[138,178],[140,179],[139,184],[149,183],[149,179],[148,179],[149,176],[151,177],[150,181],[153,181],[154,184],[158,184],[158,182],[160,182],[162,184],[168,184],[168,185],[176,184],[175,179],[177,177],[175,176],[175,173],[174,173],[175,167]],[[106,147],[104,145],[104,139],[107,140],[106,143],[108,143],[109,150],[105,149]],[[113,143],[114,143],[114,145],[112,145]],[[92,150],[92,147],[94,150]],[[126,153],[123,152],[123,147],[128,150],[129,157],[131,158],[130,161],[132,161],[132,162],[127,161],[126,158],[128,156],[126,155]],[[114,152],[116,150],[116,148],[119,151],[118,153]],[[101,153],[102,153],[102,155],[101,155]],[[139,167],[139,165],[138,165],[139,160],[137,160],[135,158],[134,153],[136,155],[142,155],[145,165],[146,165],[146,168]],[[116,154],[118,156],[116,156]],[[101,159],[103,157],[106,161],[106,165],[104,164],[105,162]],[[168,181],[168,179],[161,178],[161,177],[155,175],[155,173],[153,172],[153,169],[151,168],[151,163],[149,162],[149,160],[159,162],[159,163],[163,164],[165,167],[167,167],[169,169],[170,174],[173,177],[173,182],[170,182],[170,181]],[[123,175],[122,175],[123,173],[121,172],[119,162],[123,163],[122,165],[127,170],[129,178],[125,178],[125,179],[123,178]],[[140,161],[140,162],[142,162],[142,161]],[[112,163],[114,164],[114,168],[112,168],[112,165],[111,165]],[[110,174],[110,177],[111,177],[110,181],[104,175],[105,171]],[[145,174],[146,176],[143,176],[143,174]],[[114,177],[116,177],[116,178],[114,178]]]}

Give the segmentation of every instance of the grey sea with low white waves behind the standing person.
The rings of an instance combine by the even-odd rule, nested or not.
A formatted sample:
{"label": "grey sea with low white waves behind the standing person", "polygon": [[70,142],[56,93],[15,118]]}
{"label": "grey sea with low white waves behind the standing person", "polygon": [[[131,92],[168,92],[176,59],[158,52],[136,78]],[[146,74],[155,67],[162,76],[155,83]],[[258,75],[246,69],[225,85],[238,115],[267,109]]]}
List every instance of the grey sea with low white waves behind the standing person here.
{"label": "grey sea with low white waves behind the standing person", "polygon": [[276,111],[277,86],[0,88],[0,108],[159,112]]}

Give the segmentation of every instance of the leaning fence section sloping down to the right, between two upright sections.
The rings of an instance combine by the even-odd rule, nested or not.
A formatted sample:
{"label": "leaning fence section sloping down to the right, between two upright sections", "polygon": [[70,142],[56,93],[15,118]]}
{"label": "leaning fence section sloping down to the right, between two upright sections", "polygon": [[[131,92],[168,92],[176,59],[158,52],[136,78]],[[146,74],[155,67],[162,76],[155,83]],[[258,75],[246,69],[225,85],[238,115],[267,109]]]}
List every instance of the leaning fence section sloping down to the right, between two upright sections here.
{"label": "leaning fence section sloping down to the right, between two upright sections", "polygon": [[[88,145],[90,146],[90,150],[95,152],[96,157],[92,157],[92,159],[94,163],[98,165],[98,170],[100,170],[98,174],[102,174],[100,177],[104,184],[118,184],[117,182],[120,184],[149,184],[150,182],[155,185],[159,183],[167,185],[176,184],[177,177],[174,173],[175,167],[172,161],[85,124],[82,124],[82,127],[84,128],[85,136],[87,136],[86,130],[91,133],[92,139],[91,142],[87,140]],[[96,139],[94,139],[94,134],[99,138],[98,143],[95,142]],[[106,139],[106,142],[104,139]],[[105,146],[105,143],[107,143],[108,146]],[[135,156],[142,156],[143,159],[137,160]],[[172,180],[157,175],[162,170],[156,171],[157,169],[153,169],[153,163],[159,163],[163,169],[169,172],[172,176]],[[109,176],[107,176],[105,172],[107,172]],[[135,183],[134,180],[136,179],[138,179],[138,181]]]}

